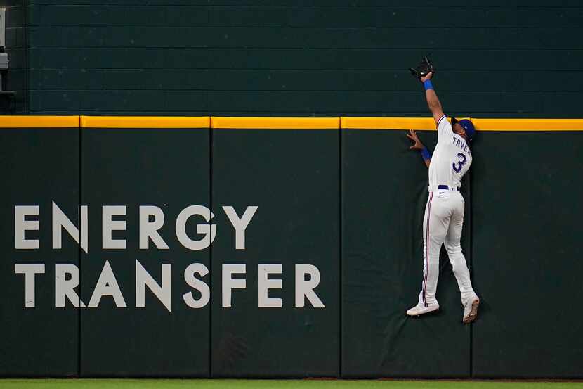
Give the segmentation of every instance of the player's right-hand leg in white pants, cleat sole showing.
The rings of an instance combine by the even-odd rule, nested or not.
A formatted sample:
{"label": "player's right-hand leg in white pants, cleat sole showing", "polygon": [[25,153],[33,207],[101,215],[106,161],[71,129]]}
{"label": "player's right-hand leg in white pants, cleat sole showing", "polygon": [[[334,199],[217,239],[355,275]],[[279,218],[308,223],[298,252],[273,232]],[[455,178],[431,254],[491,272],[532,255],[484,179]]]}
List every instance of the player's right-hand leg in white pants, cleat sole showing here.
{"label": "player's right-hand leg in white pants, cleat sole showing", "polygon": [[[477,314],[479,299],[476,292],[473,291],[466,257],[464,257],[464,253],[461,250],[461,230],[464,227],[464,198],[461,196],[461,193],[456,193],[454,196],[452,198],[454,200],[454,208],[450,219],[450,226],[445,236],[445,250],[447,250],[447,256],[450,257],[450,262],[452,262],[454,276],[459,286],[461,305],[464,305],[466,310],[471,310],[472,303],[478,300],[476,303]],[[464,321],[466,316],[467,314],[464,314]]]}

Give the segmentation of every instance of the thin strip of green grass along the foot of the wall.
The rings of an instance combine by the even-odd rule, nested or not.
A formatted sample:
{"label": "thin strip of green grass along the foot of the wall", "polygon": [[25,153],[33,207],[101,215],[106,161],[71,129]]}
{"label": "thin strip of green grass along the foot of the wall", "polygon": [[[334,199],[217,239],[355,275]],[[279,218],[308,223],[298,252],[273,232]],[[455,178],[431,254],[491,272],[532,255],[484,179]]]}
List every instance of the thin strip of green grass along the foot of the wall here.
{"label": "thin strip of green grass along the foot of the wall", "polygon": [[583,382],[391,380],[0,379],[1,389],[575,389]]}

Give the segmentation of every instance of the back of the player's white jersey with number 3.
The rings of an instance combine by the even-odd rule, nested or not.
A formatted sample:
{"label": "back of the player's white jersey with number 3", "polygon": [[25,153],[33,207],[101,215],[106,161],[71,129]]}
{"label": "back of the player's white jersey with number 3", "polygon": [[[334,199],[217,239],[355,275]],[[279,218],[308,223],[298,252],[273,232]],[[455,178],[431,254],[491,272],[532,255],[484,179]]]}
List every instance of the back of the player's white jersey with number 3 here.
{"label": "back of the player's white jersey with number 3", "polygon": [[469,170],[471,162],[466,140],[454,134],[452,125],[443,115],[438,122],[438,144],[429,165],[429,191],[437,190],[440,185],[459,188],[461,177]]}

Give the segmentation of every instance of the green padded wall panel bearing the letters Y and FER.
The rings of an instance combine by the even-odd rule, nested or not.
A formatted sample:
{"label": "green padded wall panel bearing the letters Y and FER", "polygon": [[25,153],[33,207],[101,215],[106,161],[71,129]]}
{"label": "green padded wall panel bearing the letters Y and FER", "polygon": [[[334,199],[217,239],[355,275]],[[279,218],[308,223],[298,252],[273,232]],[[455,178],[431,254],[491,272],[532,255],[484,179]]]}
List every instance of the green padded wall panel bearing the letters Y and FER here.
{"label": "green padded wall panel bearing the letters Y and FER", "polygon": [[[212,205],[212,376],[306,377],[339,374],[339,132],[338,129],[214,129]],[[219,207],[237,214],[258,207],[245,250]],[[224,227],[223,227],[224,226]],[[221,266],[246,264],[247,289],[222,307]],[[281,308],[258,307],[258,264],[281,264]],[[296,264],[320,271],[315,293],[295,307]],[[242,275],[237,275],[242,278]],[[221,283],[221,281],[223,283]]]}

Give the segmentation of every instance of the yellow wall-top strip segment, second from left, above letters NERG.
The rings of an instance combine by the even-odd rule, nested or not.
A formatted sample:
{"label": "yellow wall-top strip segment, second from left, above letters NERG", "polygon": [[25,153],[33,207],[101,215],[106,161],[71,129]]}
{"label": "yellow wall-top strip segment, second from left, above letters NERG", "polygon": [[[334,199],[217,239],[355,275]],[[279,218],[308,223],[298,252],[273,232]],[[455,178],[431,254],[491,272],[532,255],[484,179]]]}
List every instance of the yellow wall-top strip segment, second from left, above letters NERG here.
{"label": "yellow wall-top strip segment, second from left, above letters NERG", "polygon": [[81,116],[83,128],[209,128],[209,116]]}

